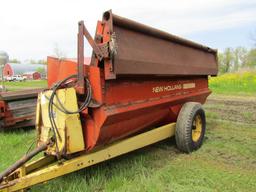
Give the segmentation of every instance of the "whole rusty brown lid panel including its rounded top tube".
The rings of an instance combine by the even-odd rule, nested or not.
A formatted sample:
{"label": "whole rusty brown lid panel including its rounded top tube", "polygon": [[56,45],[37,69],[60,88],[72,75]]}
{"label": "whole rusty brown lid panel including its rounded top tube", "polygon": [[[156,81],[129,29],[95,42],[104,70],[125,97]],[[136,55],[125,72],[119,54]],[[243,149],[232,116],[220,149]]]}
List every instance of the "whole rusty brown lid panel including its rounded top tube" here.
{"label": "whole rusty brown lid panel including its rounded top tube", "polygon": [[[217,75],[217,51],[114,15],[103,15],[103,36],[114,35],[113,71],[120,76]],[[106,68],[106,67],[105,67]],[[105,69],[106,71],[106,69]],[[106,72],[105,72],[106,73]],[[105,74],[105,79],[113,79]]]}

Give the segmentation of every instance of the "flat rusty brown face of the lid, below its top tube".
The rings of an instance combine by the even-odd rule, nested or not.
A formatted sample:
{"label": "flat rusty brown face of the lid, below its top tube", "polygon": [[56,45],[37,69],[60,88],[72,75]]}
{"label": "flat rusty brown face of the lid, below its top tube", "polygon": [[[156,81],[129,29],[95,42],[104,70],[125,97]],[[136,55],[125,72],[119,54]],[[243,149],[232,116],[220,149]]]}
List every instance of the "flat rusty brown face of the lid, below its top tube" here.
{"label": "flat rusty brown face of the lid, below its top tube", "polygon": [[216,75],[216,55],[114,26],[117,75]]}

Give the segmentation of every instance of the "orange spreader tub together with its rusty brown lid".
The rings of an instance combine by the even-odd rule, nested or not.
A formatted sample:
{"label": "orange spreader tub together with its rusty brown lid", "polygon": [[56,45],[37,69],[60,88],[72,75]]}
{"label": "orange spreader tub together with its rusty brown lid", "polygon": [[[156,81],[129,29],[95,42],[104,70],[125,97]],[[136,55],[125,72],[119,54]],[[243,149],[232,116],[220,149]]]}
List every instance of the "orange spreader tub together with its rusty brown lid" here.
{"label": "orange spreader tub together with its rusty brown lid", "polygon": [[[216,50],[106,12],[95,42],[110,41],[114,56],[92,54],[84,65],[98,104],[81,113],[85,150],[175,122],[184,103],[204,103],[211,93]],[[76,73],[75,60],[48,57],[49,86]]]}

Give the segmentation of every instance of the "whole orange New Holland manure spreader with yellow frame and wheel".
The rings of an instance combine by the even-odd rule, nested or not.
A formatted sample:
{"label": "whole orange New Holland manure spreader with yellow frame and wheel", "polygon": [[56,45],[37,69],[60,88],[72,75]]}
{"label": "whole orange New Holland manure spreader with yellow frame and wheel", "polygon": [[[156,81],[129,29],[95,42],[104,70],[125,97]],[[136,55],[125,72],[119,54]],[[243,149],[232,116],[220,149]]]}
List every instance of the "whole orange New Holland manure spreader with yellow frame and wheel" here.
{"label": "whole orange New Holland manure spreader with yellow frame and wheel", "polygon": [[[84,36],[93,49],[90,64]],[[198,149],[216,54],[111,11],[98,21],[94,39],[79,22],[77,61],[48,58],[37,147],[1,173],[0,191],[30,188],[171,136],[183,152]],[[43,157],[28,162],[39,152]]]}

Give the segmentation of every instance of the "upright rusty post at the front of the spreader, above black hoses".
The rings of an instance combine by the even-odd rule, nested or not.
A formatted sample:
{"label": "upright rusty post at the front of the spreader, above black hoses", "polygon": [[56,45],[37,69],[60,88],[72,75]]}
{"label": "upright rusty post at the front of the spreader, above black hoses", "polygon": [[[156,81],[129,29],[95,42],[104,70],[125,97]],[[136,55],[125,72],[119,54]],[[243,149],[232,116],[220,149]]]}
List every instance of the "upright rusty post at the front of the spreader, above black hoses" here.
{"label": "upright rusty post at the front of the spreader, above black hoses", "polygon": [[77,35],[77,90],[84,93],[84,22],[78,23]]}

